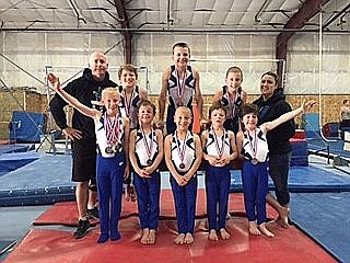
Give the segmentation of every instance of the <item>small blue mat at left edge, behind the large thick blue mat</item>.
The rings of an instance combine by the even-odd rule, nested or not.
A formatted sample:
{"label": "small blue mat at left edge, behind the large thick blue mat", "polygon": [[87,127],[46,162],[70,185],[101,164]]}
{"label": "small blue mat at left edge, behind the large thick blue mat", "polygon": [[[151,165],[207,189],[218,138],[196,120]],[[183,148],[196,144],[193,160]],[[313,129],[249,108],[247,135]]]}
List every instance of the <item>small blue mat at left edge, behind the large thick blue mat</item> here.
{"label": "small blue mat at left edge, behind the large thick blue mat", "polygon": [[36,151],[0,155],[0,176],[39,158]]}

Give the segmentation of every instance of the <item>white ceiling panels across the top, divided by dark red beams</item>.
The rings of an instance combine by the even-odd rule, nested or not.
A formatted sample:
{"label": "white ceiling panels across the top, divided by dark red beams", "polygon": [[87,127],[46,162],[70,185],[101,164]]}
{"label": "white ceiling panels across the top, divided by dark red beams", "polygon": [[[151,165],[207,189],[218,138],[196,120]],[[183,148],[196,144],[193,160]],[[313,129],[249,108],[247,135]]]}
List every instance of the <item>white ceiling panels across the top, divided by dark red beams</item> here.
{"label": "white ceiling panels across the top, divided by dark red beams", "polygon": [[[0,0],[0,31],[120,31],[127,26],[115,1],[122,0]],[[306,0],[124,0],[133,32],[202,31],[264,32],[283,30]],[[329,0],[323,24],[350,32],[350,1]],[[346,9],[347,8],[347,9]],[[340,13],[341,11],[345,11]],[[303,30],[318,31],[319,14]]]}

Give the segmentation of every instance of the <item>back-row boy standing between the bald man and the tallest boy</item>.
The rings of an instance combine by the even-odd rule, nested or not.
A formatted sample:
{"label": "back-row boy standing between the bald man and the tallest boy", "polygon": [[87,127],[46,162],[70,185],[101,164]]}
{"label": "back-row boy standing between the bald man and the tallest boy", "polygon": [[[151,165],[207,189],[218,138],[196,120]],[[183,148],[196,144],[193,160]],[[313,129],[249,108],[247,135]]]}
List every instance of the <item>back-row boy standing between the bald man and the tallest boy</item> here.
{"label": "back-row boy standing between the bald man and the tallest boy", "polygon": [[[122,117],[128,117],[130,121],[130,130],[137,128],[138,116],[137,107],[141,100],[148,99],[148,92],[145,89],[137,85],[138,70],[131,64],[122,65],[118,70],[118,78],[120,85],[118,87],[120,93],[120,114]],[[131,176],[125,180],[125,199],[135,202],[136,193],[132,184],[132,171]]]}

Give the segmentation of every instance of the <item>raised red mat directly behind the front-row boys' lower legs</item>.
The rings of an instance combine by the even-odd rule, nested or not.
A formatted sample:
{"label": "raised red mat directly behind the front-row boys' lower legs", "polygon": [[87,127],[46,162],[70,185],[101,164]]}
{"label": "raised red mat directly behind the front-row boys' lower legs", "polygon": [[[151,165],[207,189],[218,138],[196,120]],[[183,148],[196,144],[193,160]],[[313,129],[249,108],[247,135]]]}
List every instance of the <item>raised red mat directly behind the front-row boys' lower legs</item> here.
{"label": "raised red mat directly behind the front-row boys' lower legs", "polygon": [[[230,194],[229,211],[233,216],[245,216],[243,194],[235,193]],[[277,213],[271,207],[268,207],[268,216],[270,218],[277,217]],[[138,209],[137,204],[133,202],[122,202],[121,218],[137,217]],[[197,194],[197,211],[196,218],[206,218],[207,205],[206,205],[206,192],[205,190],[198,190]],[[160,219],[175,219],[174,198],[171,190],[163,190],[161,193],[161,215]],[[91,224],[95,226],[98,221],[91,220]],[[78,210],[75,202],[62,202],[52,205],[33,222],[35,226],[44,225],[63,225],[75,227],[78,224]]]}

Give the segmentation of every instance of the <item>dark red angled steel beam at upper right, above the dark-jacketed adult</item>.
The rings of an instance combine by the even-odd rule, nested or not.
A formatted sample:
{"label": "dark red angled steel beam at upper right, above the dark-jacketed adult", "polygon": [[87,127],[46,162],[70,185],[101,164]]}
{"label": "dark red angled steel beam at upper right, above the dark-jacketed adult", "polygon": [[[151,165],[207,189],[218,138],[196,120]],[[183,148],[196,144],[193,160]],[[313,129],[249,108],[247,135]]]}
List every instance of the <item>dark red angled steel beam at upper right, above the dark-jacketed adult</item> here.
{"label": "dark red angled steel beam at upper right, above the dark-jacketed adult", "polygon": [[[326,4],[329,0],[306,0],[301,9],[288,21],[284,25],[284,30],[290,28],[302,28],[310,19],[319,13],[322,7]],[[288,41],[294,35],[294,32],[282,32],[277,36],[276,42],[276,58],[284,59],[287,61],[287,46]],[[284,73],[283,65],[281,62],[277,64],[277,73],[282,77]],[[280,79],[285,79],[280,78]],[[284,88],[284,83],[279,83],[280,88]]]}

